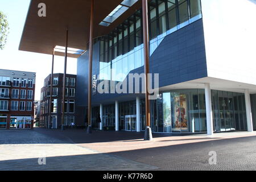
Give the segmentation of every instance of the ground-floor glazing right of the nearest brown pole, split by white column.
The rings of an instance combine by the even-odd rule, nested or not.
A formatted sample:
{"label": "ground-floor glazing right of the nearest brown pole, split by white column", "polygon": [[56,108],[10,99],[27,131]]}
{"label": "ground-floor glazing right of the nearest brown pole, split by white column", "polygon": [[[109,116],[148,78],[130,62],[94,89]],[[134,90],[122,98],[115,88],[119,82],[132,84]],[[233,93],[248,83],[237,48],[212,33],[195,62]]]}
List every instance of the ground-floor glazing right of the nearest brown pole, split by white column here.
{"label": "ground-floor glazing right of the nearest brown pole, split by white column", "polygon": [[[245,95],[212,90],[215,132],[247,130]],[[203,89],[173,90],[151,101],[152,131],[159,133],[206,133]]]}

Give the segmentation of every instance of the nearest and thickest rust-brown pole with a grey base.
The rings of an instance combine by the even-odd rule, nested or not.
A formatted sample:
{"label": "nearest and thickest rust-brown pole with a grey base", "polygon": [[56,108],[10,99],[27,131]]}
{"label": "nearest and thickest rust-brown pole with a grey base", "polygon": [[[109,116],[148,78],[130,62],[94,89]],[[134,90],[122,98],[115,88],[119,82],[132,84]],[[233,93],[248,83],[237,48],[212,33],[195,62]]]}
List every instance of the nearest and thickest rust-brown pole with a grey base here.
{"label": "nearest and thickest rust-brown pole with a grey base", "polygon": [[144,140],[152,140],[150,128],[150,101],[148,100],[148,73],[149,73],[149,36],[148,36],[148,7],[147,0],[142,0],[142,19],[143,19],[143,42],[144,42],[144,74],[145,74],[145,100],[146,100],[146,131]]}

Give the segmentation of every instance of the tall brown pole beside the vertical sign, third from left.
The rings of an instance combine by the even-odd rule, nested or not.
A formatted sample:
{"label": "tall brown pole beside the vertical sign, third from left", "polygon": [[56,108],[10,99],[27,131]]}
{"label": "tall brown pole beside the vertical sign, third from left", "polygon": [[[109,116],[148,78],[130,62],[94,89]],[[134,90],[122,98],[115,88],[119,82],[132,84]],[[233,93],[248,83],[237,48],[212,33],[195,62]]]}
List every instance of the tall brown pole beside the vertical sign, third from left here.
{"label": "tall brown pole beside the vertical sign, third from left", "polygon": [[88,70],[88,127],[87,133],[92,133],[91,111],[92,111],[92,56],[93,56],[93,10],[94,0],[90,5],[90,38],[89,38],[89,70]]}

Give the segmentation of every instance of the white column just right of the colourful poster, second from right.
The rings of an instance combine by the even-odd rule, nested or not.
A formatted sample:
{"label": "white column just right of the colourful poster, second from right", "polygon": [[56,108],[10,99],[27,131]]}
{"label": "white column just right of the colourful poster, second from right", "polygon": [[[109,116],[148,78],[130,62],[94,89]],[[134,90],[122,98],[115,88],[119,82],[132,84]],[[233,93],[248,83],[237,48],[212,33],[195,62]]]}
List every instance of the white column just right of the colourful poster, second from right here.
{"label": "white column just right of the colourful poster, second from right", "polygon": [[205,106],[207,114],[207,135],[213,135],[212,98],[210,96],[210,84],[205,84]]}

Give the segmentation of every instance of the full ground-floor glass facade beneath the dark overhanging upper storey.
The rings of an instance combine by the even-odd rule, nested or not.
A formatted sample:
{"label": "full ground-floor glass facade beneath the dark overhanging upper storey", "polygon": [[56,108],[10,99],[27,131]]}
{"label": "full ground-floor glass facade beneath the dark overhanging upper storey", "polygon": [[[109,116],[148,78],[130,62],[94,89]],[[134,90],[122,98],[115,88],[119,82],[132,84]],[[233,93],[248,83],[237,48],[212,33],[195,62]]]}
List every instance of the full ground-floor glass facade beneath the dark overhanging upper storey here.
{"label": "full ground-floor glass facade beneath the dark overhanging upper storey", "polygon": [[[247,130],[245,94],[211,90],[214,132]],[[141,99],[141,130],[145,130],[145,103]],[[120,102],[119,130],[136,131],[136,101]],[[204,89],[171,90],[151,100],[151,129],[156,133],[207,133]],[[99,107],[92,111],[93,126]],[[103,107],[103,126],[114,130],[115,104]]]}

